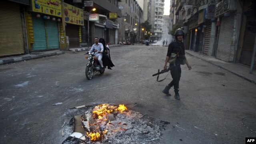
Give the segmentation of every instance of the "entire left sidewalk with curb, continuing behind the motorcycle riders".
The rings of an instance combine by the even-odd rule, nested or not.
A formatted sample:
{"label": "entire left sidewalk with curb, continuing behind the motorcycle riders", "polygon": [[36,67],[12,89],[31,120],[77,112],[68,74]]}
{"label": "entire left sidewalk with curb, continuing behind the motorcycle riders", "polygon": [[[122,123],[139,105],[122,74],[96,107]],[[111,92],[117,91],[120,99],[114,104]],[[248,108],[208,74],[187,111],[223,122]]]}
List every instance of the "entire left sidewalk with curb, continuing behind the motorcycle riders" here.
{"label": "entire left sidewalk with curb, continuing behind the motorcycle riders", "polygon": [[[109,47],[115,47],[115,46],[123,46],[118,44],[110,45]],[[82,47],[82,48],[70,48],[69,51],[79,52],[79,51],[87,51],[90,50],[91,47]],[[13,62],[20,62],[24,60],[31,60],[36,58],[43,58],[47,56],[56,56],[59,54],[64,54],[66,51],[62,50],[49,50],[44,52],[31,52],[30,54],[24,54],[19,56],[8,56],[8,57],[2,57],[0,58],[0,65],[2,64],[9,64]]]}

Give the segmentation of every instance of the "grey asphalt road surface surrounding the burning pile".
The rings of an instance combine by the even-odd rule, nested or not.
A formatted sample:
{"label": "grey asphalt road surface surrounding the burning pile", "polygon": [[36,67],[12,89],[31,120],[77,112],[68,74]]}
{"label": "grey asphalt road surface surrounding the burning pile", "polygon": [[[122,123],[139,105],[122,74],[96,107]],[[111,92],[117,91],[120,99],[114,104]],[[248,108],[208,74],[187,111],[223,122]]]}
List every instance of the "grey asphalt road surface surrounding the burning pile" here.
{"label": "grey asphalt road surface surrounding the burning pile", "polygon": [[[256,137],[256,87],[230,72],[187,56],[180,98],[161,91],[170,82],[152,74],[164,67],[167,47],[111,48],[113,70],[84,74],[85,52],[67,52],[0,66],[0,143],[60,144],[74,106],[125,104],[128,109],[170,122],[159,144],[244,144]],[[162,74],[164,78],[167,73]],[[57,106],[52,104],[62,102]]]}

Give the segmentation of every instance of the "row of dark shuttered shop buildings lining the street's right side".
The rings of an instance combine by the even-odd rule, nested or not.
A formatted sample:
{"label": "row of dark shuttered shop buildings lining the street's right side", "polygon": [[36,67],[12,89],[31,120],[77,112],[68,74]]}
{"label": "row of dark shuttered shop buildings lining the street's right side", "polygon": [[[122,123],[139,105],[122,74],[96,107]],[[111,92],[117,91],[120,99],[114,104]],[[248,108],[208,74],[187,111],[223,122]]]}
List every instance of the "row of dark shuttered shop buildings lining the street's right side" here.
{"label": "row of dark shuttered shop buildings lining the street's right side", "polygon": [[174,6],[187,49],[255,69],[255,2],[176,0]]}

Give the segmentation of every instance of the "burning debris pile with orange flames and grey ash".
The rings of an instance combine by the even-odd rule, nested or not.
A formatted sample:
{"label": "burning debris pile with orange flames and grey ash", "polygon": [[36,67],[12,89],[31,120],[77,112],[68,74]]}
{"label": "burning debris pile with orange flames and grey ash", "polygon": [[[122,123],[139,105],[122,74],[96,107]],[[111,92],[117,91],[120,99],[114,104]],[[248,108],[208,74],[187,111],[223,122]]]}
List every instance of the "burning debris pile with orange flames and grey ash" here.
{"label": "burning debris pile with orange flames and grey ash", "polygon": [[168,124],[127,110],[124,104],[99,104],[72,121],[74,132],[62,144],[154,144]]}

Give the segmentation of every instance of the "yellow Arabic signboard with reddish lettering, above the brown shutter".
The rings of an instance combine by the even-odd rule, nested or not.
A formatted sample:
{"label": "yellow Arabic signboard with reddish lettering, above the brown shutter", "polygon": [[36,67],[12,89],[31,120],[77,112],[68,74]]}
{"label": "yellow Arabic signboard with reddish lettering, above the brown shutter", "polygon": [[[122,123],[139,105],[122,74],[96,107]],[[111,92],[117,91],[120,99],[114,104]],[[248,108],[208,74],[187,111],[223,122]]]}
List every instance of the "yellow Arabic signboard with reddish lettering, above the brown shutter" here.
{"label": "yellow Arabic signboard with reddish lettering, above the brown shutter", "polygon": [[66,23],[84,25],[84,11],[82,9],[64,3],[64,15]]}

